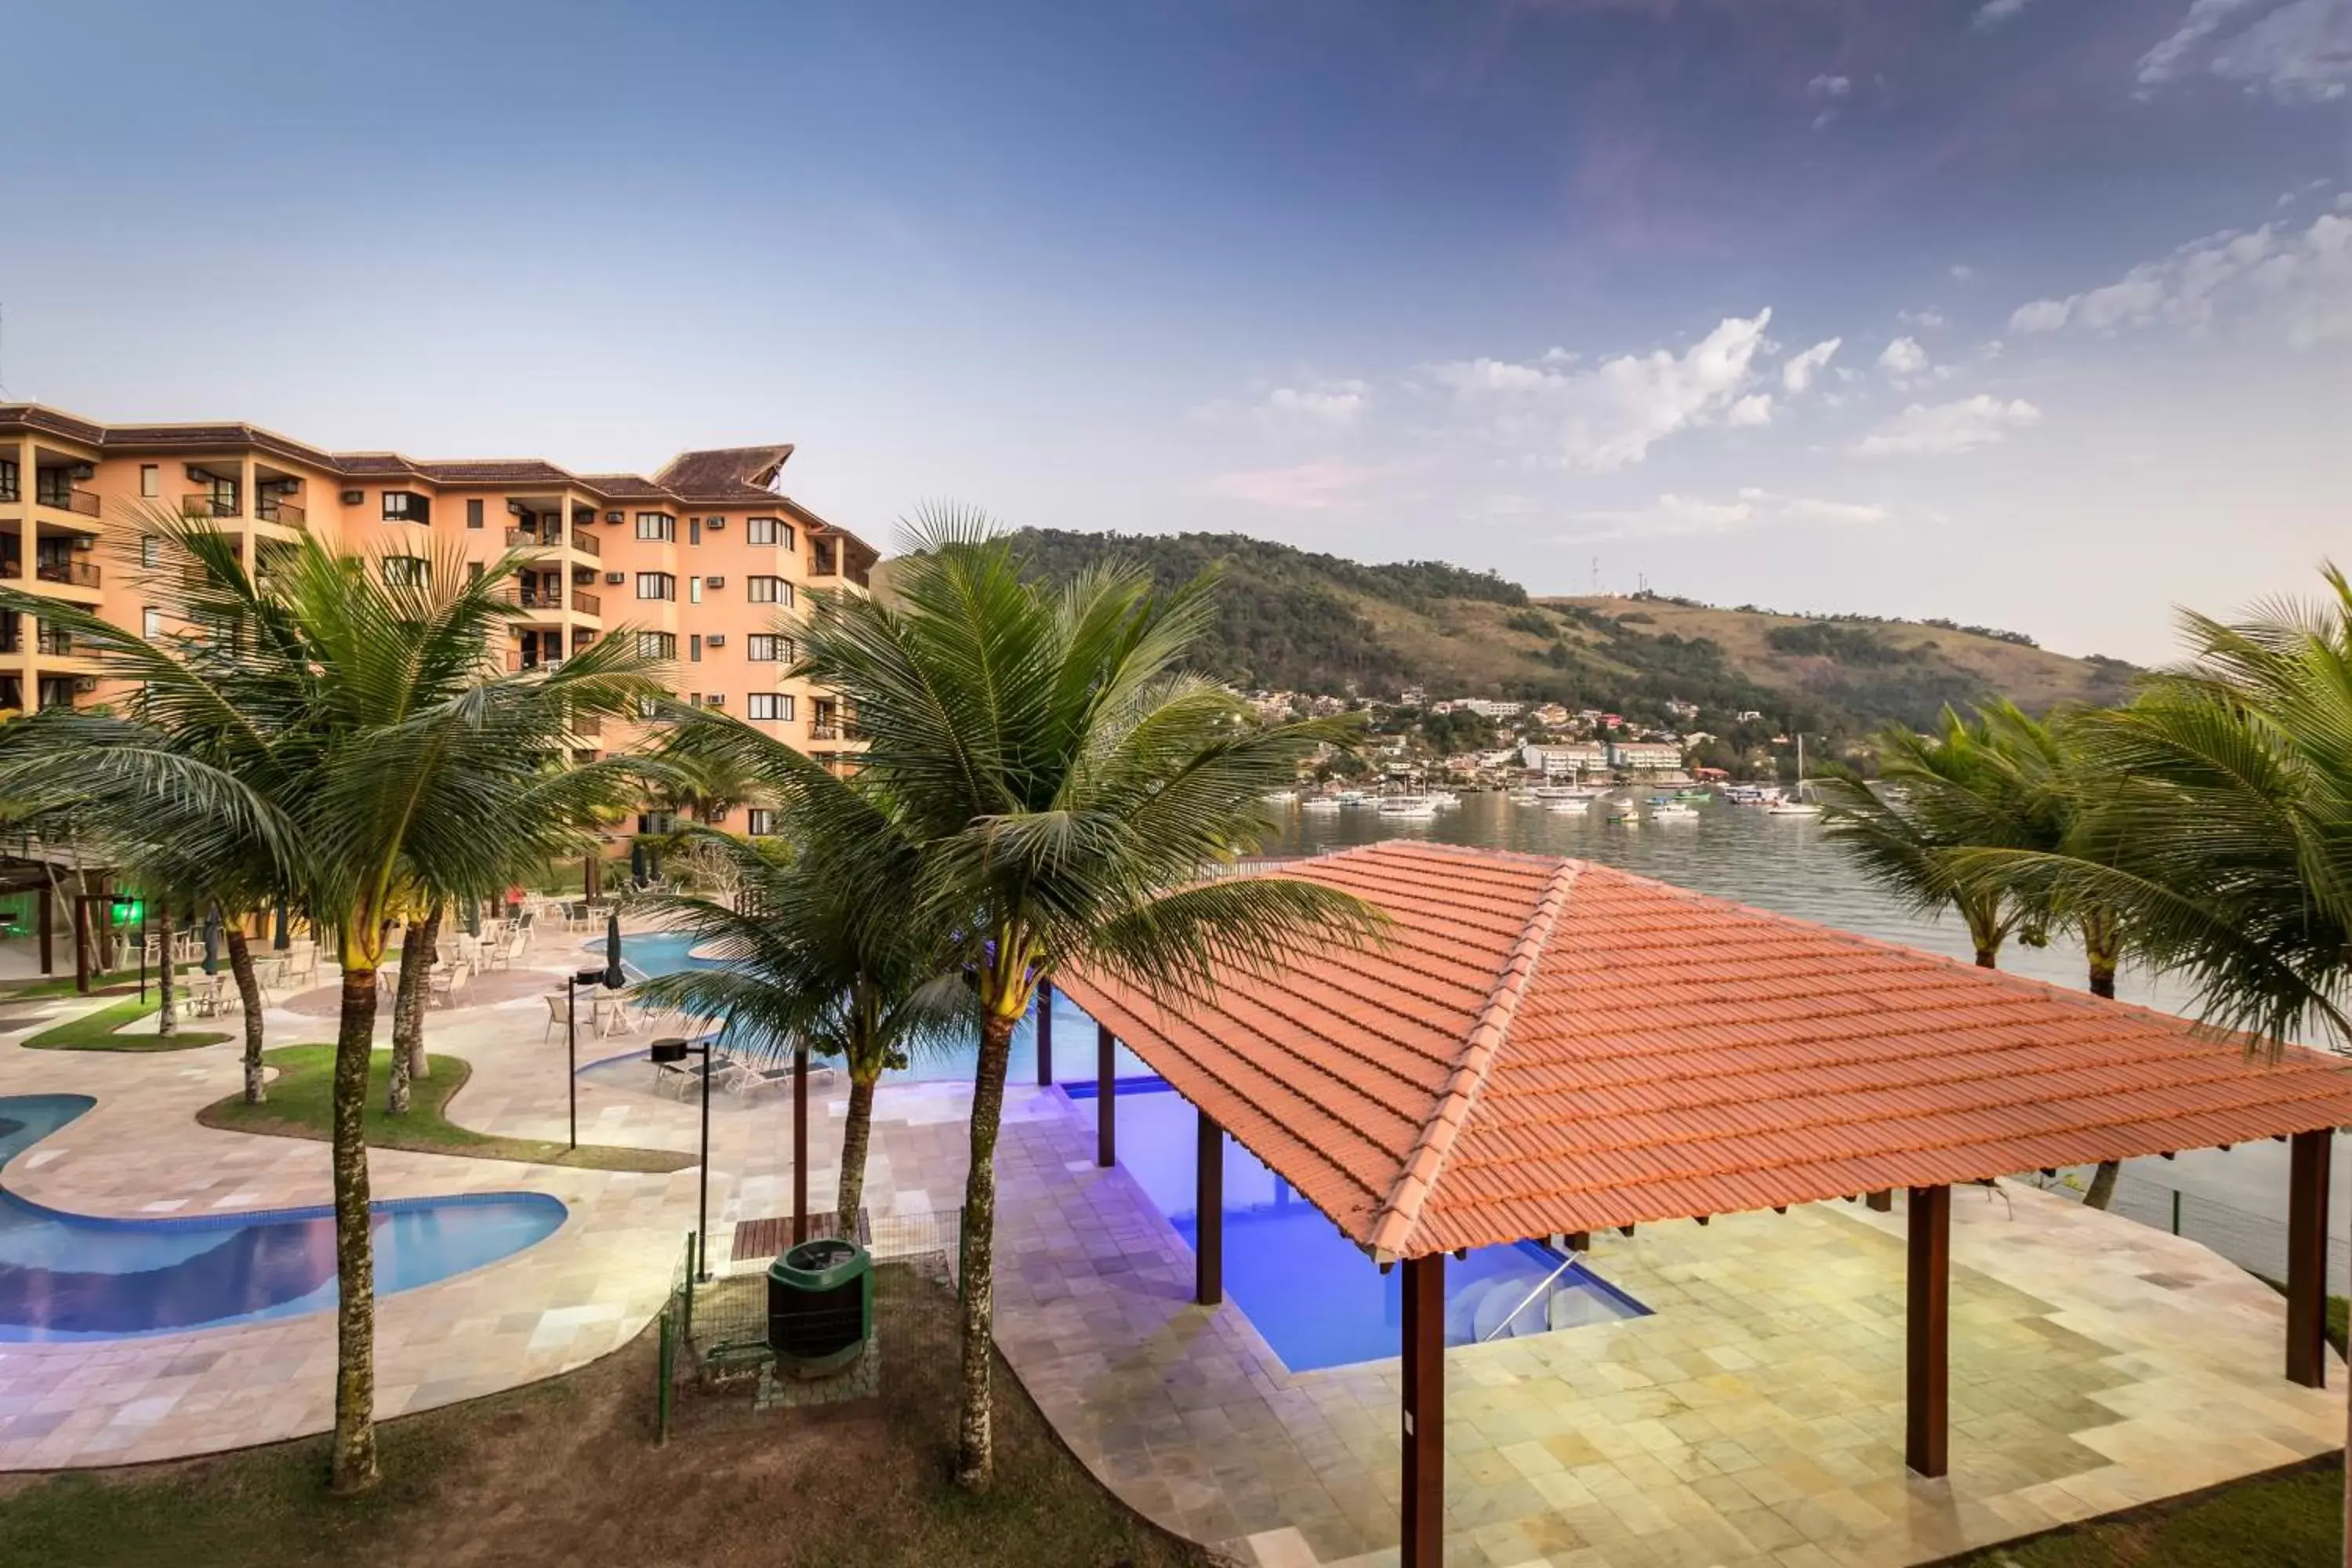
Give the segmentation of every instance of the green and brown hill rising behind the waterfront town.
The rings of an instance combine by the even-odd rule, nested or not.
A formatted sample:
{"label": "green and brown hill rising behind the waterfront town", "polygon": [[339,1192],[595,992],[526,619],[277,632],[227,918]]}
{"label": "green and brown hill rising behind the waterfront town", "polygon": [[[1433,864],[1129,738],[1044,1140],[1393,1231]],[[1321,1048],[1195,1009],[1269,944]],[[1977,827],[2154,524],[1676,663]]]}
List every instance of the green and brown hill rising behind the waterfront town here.
{"label": "green and brown hill rising behind the waterfront town", "polygon": [[1030,571],[1141,564],[1162,585],[1216,569],[1209,670],[1244,689],[1512,696],[1663,715],[1668,701],[1759,710],[1806,729],[1926,724],[1943,703],[2013,696],[2042,710],[2124,696],[2131,665],[2070,658],[2016,632],[1783,616],[1686,599],[1531,599],[1444,562],[1367,567],[1240,534],[1023,529]]}

